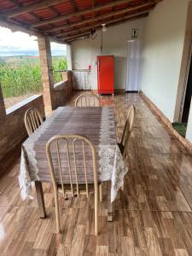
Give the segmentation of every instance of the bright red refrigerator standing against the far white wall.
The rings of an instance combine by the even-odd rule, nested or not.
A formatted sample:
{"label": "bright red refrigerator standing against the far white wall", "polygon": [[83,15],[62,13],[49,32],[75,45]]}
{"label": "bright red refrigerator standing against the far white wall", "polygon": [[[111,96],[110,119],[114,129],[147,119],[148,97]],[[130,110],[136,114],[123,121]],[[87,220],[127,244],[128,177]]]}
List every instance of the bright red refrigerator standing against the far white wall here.
{"label": "bright red refrigerator standing against the far white wall", "polygon": [[98,94],[114,93],[114,56],[97,56]]}

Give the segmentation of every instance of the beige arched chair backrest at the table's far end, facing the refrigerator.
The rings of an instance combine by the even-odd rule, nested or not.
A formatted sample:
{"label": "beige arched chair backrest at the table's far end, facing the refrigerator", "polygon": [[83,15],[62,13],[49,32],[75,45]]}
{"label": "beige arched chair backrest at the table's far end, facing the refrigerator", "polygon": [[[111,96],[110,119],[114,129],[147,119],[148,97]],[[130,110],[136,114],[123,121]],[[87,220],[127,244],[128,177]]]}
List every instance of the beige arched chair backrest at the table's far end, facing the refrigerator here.
{"label": "beige arched chair backrest at the table's far end, facing the refrigerator", "polygon": [[75,107],[100,107],[100,100],[96,95],[83,94],[77,97]]}

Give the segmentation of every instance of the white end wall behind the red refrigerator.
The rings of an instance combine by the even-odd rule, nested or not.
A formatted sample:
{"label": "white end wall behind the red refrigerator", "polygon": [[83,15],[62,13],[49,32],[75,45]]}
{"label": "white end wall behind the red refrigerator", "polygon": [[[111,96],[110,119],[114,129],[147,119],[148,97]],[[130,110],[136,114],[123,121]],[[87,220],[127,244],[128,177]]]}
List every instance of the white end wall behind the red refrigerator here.
{"label": "white end wall behind the red refrigerator", "polygon": [[[125,89],[127,40],[131,39],[131,29],[138,28],[138,38],[143,39],[145,20],[126,21],[103,32],[102,55],[115,57],[115,89]],[[72,44],[73,68],[88,69],[91,65],[92,89],[97,88],[96,56],[101,55],[101,30],[96,34],[95,40],[78,40]]]}

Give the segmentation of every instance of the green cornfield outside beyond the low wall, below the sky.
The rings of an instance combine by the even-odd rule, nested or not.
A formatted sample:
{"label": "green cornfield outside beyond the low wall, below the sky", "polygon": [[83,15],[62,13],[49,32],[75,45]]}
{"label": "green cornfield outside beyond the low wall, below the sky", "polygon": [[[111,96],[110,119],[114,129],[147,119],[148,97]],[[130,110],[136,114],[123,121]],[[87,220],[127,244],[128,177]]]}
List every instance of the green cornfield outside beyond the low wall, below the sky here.
{"label": "green cornfield outside beyond the low wall, below the sky", "polygon": [[[65,57],[53,57],[54,82],[61,81],[59,70],[67,69]],[[22,96],[42,91],[41,67],[37,57],[17,56],[0,58],[0,84],[3,96]]]}

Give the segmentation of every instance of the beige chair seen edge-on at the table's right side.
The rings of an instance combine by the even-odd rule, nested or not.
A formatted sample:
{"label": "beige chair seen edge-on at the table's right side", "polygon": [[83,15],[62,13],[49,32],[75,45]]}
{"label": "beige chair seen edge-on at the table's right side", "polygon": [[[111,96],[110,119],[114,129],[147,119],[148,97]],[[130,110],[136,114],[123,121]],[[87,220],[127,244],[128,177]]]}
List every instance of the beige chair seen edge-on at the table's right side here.
{"label": "beige chair seen edge-on at the table's right side", "polygon": [[134,105],[131,105],[131,107],[128,110],[127,119],[125,122],[121,142],[118,143],[120,152],[123,155],[124,159],[127,157],[128,143],[129,143],[129,138],[131,137],[131,131],[134,124],[135,114],[136,114],[136,108],[134,107]]}

